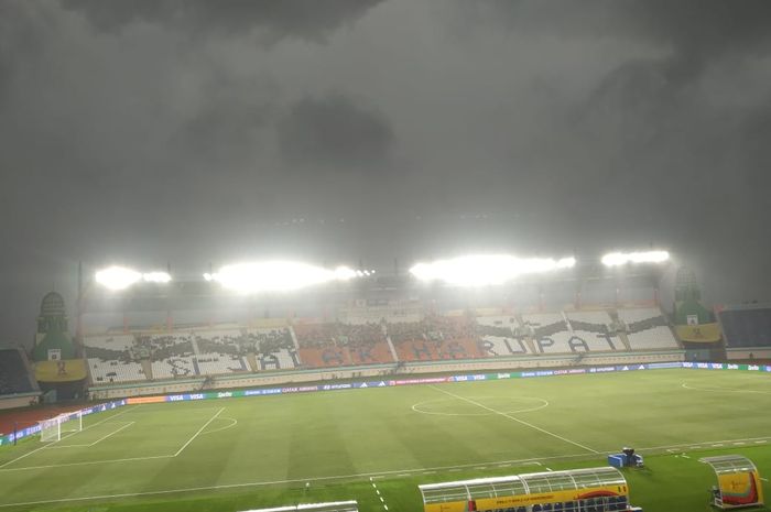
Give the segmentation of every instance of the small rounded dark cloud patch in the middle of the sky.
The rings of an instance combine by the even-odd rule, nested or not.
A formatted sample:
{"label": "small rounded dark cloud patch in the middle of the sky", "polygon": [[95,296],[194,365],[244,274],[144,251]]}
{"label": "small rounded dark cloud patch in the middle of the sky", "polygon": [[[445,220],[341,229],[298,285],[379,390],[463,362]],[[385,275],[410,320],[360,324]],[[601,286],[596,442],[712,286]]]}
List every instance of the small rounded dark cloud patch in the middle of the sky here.
{"label": "small rounded dark cloud patch in the middle of the sky", "polygon": [[350,171],[387,164],[394,134],[382,113],[334,94],[295,102],[279,124],[279,142],[292,164]]}

